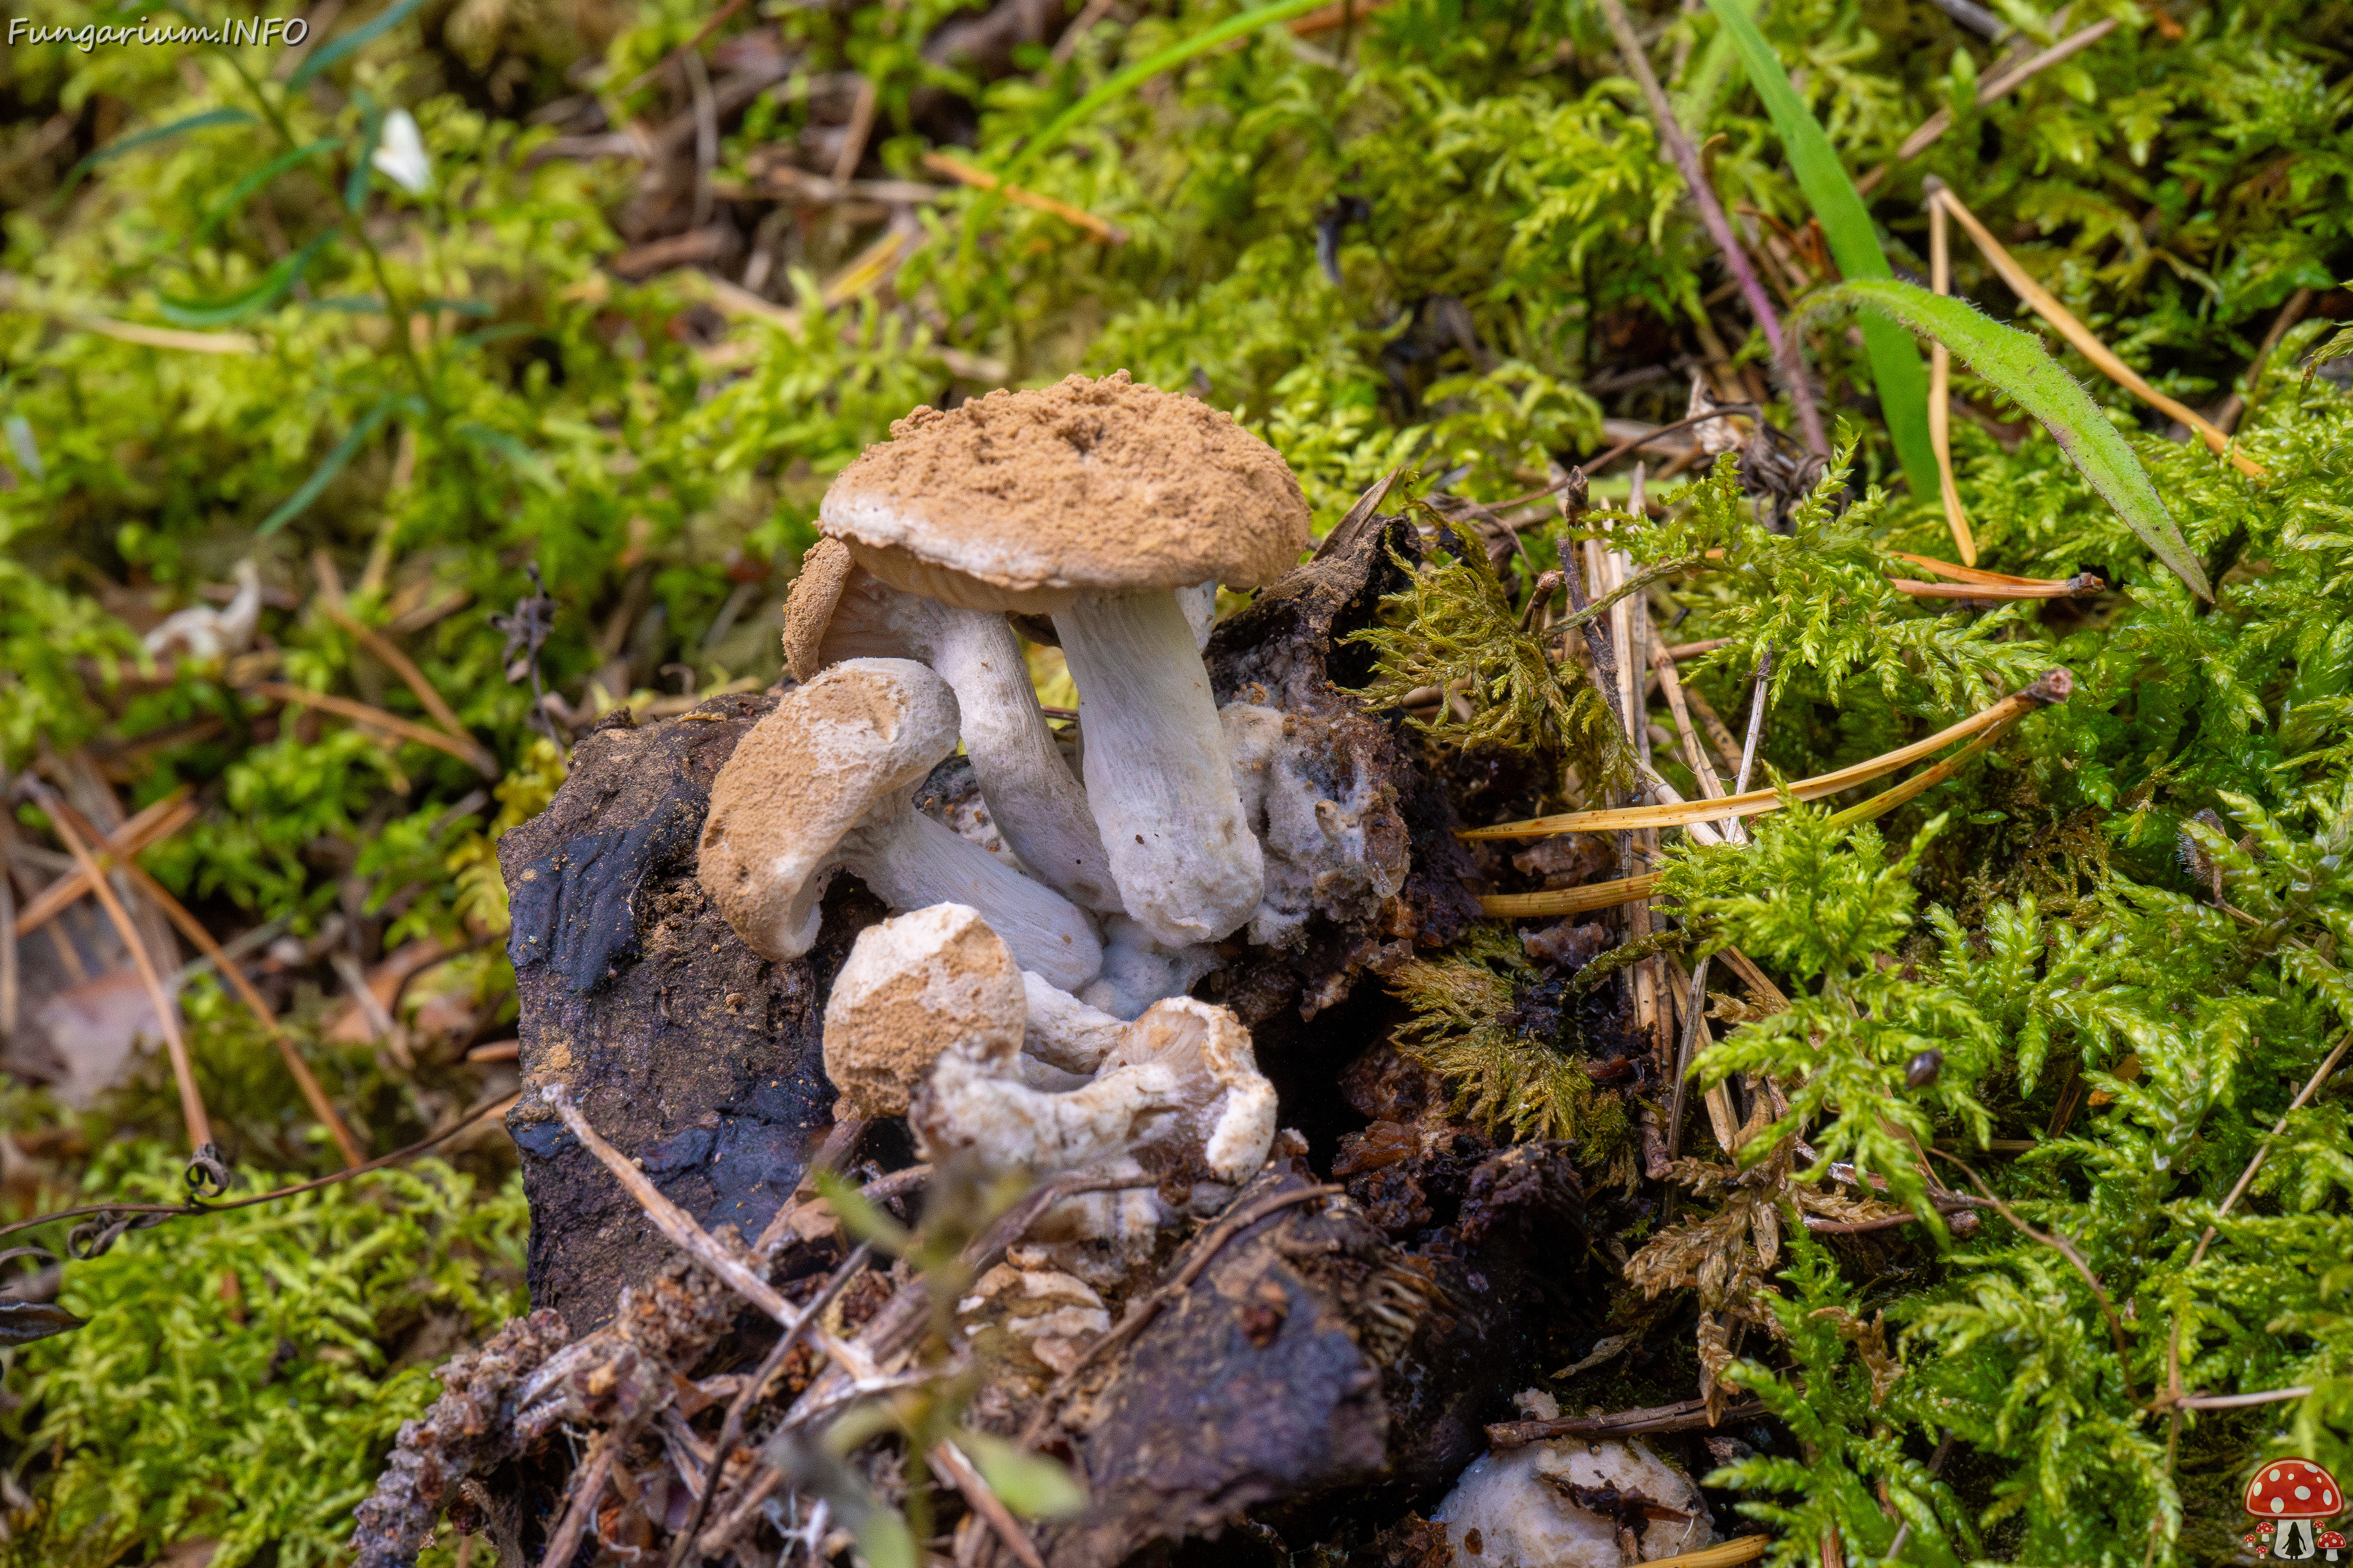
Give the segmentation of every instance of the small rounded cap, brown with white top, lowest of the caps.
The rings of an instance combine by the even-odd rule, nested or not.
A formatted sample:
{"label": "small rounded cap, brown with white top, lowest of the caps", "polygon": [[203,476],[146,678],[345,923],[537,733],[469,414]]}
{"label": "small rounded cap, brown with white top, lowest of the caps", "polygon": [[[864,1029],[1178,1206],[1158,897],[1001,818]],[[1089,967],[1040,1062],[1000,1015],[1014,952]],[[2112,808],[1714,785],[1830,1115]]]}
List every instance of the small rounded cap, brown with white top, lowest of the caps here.
{"label": "small rounded cap, brown with white top, lowest of the caps", "polygon": [[904,1117],[939,1053],[1021,1051],[1021,966],[979,910],[941,903],[859,931],[826,1001],[826,1077],[842,1114]]}

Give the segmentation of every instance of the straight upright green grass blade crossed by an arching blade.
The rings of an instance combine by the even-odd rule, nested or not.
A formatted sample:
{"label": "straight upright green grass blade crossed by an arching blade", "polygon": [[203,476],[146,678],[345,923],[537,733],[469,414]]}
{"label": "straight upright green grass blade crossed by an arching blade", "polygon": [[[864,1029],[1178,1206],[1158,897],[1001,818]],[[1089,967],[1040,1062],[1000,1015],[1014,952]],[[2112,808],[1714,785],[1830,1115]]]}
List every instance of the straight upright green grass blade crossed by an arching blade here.
{"label": "straight upright green grass blade crossed by an arching blade", "polygon": [[[1788,85],[1788,73],[1781,71],[1781,59],[1765,42],[1765,33],[1732,0],[1708,0],[1708,9],[1732,38],[1732,47],[1739,49],[1748,82],[1765,99],[1765,113],[1772,115],[1772,127],[1781,134],[1798,188],[1805,190],[1807,205],[1821,219],[1821,235],[1831,242],[1838,270],[1845,277],[1894,277],[1861,193],[1847,179],[1838,150],[1807,113],[1798,89]],[[1864,353],[1871,357],[1871,378],[1878,383],[1880,409],[1887,416],[1887,433],[1897,442],[1904,477],[1911,480],[1913,496],[1934,498],[1939,494],[1937,451],[1927,440],[1927,367],[1920,364],[1920,350],[1904,331],[1873,317],[1864,322]]]}

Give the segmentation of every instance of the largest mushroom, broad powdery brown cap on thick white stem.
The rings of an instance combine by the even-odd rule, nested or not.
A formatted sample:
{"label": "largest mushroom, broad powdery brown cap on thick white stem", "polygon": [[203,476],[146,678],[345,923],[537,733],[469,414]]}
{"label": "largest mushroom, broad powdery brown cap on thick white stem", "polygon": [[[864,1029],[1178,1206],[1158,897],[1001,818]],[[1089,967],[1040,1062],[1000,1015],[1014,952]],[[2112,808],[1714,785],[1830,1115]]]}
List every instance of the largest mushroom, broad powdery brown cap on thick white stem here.
{"label": "largest mushroom, broad powdery brown cap on thick white stem", "polygon": [[1259,585],[1306,548],[1306,498],[1266,442],[1125,371],[1071,376],[915,409],[842,470],[819,524],[904,592],[1052,616],[1127,912],[1169,947],[1252,917],[1259,842],[1179,590]]}

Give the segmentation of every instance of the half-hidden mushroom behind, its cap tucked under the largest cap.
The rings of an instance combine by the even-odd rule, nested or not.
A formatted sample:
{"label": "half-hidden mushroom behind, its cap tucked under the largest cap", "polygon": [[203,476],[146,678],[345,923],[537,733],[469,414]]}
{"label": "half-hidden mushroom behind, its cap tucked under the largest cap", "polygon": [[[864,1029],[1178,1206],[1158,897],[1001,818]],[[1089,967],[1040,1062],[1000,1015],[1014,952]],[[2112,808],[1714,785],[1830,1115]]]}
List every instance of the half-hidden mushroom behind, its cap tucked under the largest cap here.
{"label": "half-hidden mushroom behind, its cap tucked under the largest cap", "polygon": [[899,592],[824,538],[784,602],[784,663],[809,679],[845,658],[932,665],[955,689],[981,797],[1021,865],[1073,903],[1120,912],[1087,792],[1054,748],[1005,616]]}

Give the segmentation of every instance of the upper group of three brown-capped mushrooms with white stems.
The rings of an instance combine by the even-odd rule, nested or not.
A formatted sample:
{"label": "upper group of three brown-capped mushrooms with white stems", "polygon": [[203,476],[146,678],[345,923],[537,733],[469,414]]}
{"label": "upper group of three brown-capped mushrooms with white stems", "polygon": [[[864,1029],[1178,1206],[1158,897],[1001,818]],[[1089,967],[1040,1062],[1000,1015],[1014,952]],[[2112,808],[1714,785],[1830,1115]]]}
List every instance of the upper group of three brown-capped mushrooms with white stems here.
{"label": "upper group of three brown-capped mushrooms with white stems", "polygon": [[[1127,371],[1071,376],[915,409],[819,527],[786,602],[800,684],[720,769],[701,839],[699,877],[753,950],[807,952],[849,870],[894,910],[979,910],[1019,971],[1120,1023],[1188,992],[1221,938],[1278,931],[1271,889],[1299,882],[1282,832],[1348,825],[1271,809],[1257,731],[1280,719],[1238,733],[1202,665],[1217,585],[1261,585],[1308,545],[1266,442]],[[1016,623],[1078,682],[1075,762]],[[913,806],[958,745],[1002,853]]]}

